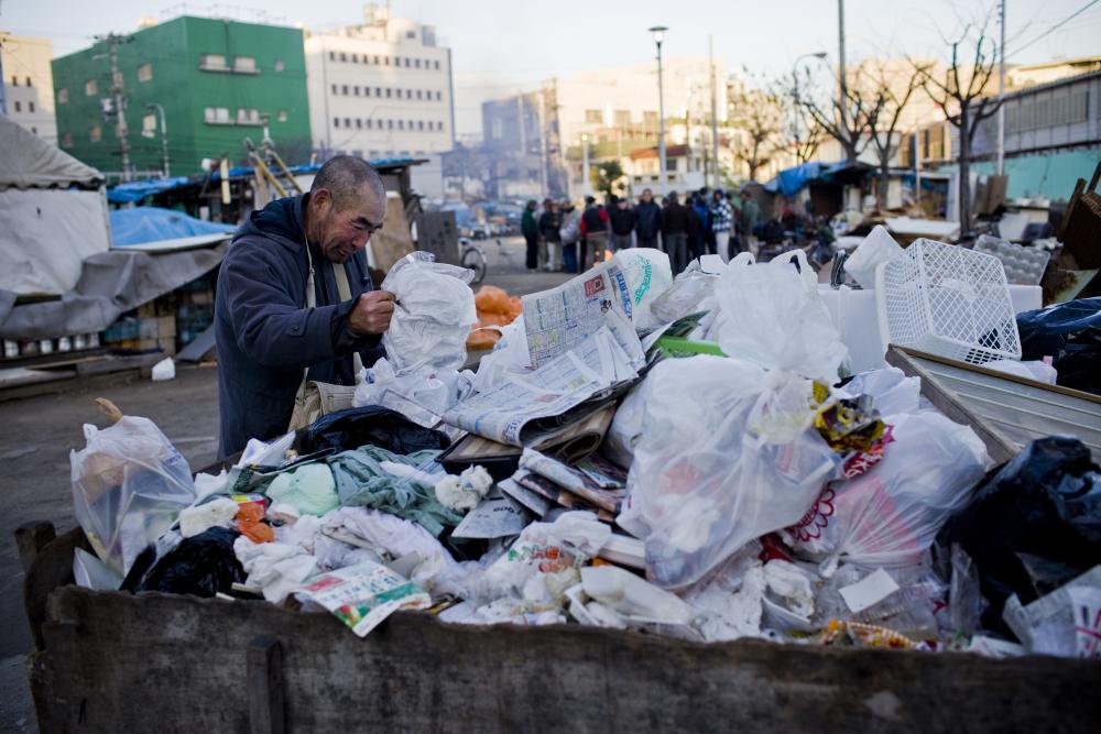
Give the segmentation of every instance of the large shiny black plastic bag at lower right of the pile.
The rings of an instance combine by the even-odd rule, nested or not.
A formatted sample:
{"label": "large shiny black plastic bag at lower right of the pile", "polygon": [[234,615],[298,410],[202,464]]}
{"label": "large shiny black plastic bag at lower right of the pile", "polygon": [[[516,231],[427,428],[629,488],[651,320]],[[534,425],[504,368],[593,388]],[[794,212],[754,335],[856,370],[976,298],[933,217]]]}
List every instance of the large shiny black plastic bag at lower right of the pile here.
{"label": "large shiny black plastic bag at lower right of the pile", "polygon": [[945,527],[979,569],[989,602],[982,626],[1009,632],[1002,607],[1023,604],[1101,563],[1101,475],[1076,438],[1051,436],[988,476],[972,504]]}

